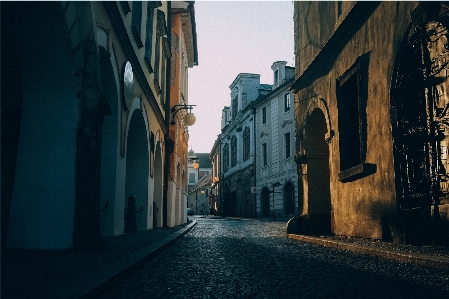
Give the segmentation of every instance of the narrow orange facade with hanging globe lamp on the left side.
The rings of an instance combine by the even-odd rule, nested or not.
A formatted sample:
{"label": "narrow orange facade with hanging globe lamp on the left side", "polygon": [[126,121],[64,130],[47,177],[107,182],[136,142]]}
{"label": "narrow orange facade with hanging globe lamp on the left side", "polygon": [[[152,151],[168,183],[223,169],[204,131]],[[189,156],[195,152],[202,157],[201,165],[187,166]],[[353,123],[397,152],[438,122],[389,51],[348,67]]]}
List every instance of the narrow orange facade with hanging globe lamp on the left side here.
{"label": "narrow orange facade with hanging globe lamp on the left side", "polygon": [[[168,126],[168,140],[173,151],[168,152],[167,172],[167,226],[185,223],[188,197],[188,141],[189,130],[184,121],[191,109],[188,99],[188,69],[198,65],[196,23],[193,1],[173,1],[171,4],[171,65],[170,110],[172,120]],[[165,197],[164,197],[165,198]]]}

